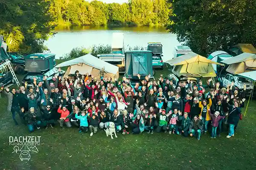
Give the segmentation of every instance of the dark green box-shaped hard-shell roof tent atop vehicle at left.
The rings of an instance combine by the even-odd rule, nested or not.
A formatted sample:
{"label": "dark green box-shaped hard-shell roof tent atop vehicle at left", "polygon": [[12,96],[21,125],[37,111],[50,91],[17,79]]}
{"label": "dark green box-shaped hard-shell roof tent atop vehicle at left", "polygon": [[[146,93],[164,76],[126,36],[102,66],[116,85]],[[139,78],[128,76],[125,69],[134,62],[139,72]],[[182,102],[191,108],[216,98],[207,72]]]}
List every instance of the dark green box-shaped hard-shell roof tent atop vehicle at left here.
{"label": "dark green box-shaped hard-shell roof tent atop vehicle at left", "polygon": [[35,53],[27,55],[25,58],[25,71],[33,73],[44,73],[56,65],[55,54]]}

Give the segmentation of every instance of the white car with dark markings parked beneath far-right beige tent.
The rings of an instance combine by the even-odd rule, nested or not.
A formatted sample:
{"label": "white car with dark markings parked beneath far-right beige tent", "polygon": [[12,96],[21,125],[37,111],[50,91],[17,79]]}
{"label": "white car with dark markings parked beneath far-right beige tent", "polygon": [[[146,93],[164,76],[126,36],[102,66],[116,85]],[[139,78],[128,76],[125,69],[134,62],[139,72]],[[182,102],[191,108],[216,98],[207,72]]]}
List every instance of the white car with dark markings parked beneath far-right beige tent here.
{"label": "white car with dark markings parked beneath far-right beige tent", "polygon": [[246,96],[250,96],[251,91],[253,90],[253,82],[249,79],[245,79],[244,77],[240,77],[238,75],[227,73],[224,77],[221,77],[222,86],[227,88],[227,85],[234,82],[234,87],[239,89],[244,89],[244,84],[246,85]]}

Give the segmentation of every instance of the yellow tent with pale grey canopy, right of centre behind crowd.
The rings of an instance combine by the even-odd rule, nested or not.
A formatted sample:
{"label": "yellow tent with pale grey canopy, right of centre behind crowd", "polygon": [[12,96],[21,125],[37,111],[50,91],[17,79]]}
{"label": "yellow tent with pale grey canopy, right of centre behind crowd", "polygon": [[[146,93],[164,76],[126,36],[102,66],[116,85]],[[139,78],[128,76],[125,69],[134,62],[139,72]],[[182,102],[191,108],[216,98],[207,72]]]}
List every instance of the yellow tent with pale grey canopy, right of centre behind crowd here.
{"label": "yellow tent with pale grey canopy, right of centre behind crowd", "polygon": [[223,65],[195,54],[194,52],[184,54],[166,62],[168,62],[170,65],[175,65],[172,72],[178,77],[216,77],[212,64]]}

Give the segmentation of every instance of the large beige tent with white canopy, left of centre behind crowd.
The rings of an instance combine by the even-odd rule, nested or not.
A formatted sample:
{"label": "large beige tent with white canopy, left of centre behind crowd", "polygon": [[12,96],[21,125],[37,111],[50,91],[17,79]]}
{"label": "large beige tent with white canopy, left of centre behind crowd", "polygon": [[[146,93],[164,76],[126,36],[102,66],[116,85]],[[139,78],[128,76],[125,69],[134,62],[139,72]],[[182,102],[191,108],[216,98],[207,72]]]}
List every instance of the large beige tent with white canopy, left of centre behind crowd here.
{"label": "large beige tent with white canopy, left of centre behind crowd", "polygon": [[75,71],[78,70],[80,74],[90,74],[99,79],[99,71],[105,67],[104,77],[111,77],[112,79],[119,77],[118,67],[108,62],[102,61],[97,57],[94,57],[91,54],[86,54],[84,56],[78,57],[76,59],[71,59],[61,64],[56,65],[56,68],[68,66],[67,71],[64,76],[69,74],[75,74]]}

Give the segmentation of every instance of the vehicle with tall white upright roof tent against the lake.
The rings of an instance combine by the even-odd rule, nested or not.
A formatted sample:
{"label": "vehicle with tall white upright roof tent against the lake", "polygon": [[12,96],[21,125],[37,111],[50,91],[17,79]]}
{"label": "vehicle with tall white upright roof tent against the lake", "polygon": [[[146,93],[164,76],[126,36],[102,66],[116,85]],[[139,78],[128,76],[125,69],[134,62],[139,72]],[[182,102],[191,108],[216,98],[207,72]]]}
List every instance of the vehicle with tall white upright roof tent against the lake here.
{"label": "vehicle with tall white upright roof tent against the lake", "polygon": [[125,54],[124,50],[124,33],[113,33],[111,54]]}

